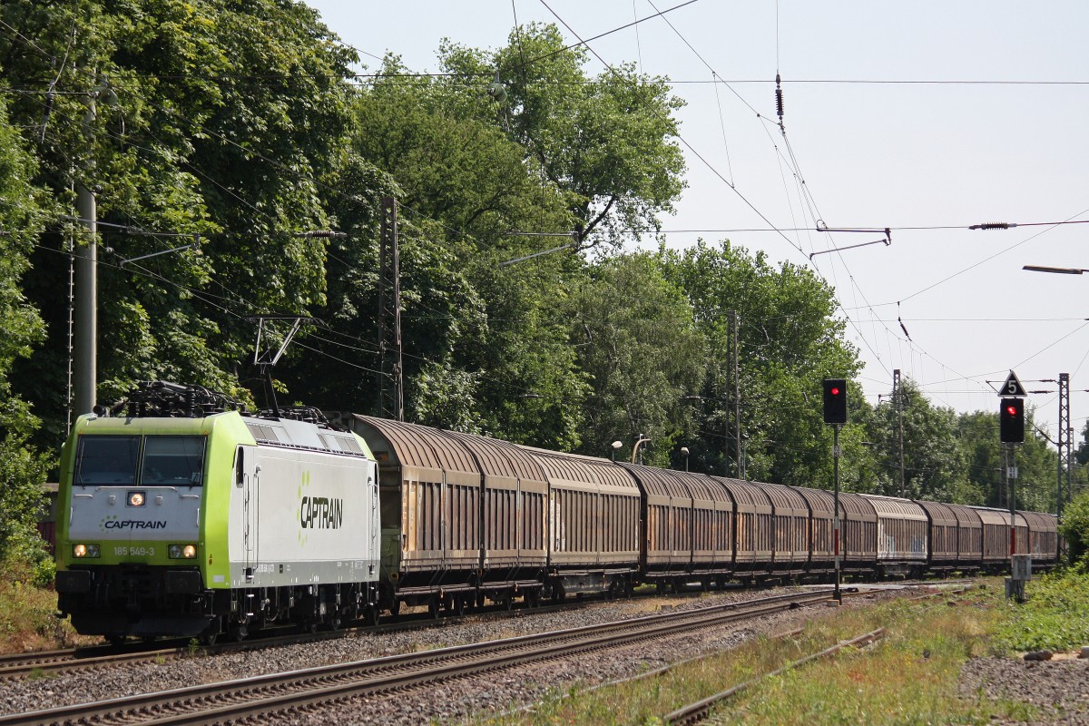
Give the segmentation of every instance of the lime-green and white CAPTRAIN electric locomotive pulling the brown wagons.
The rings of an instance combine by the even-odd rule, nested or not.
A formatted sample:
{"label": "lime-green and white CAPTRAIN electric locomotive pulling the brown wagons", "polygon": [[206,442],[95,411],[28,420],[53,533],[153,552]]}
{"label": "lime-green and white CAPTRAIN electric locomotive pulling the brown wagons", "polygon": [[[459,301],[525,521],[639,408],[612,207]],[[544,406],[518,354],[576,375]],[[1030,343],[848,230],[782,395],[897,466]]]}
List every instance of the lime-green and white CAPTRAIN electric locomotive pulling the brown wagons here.
{"label": "lime-green and white CAPTRAIN electric locomotive pulling the brown wagons", "polygon": [[210,641],[377,619],[363,439],[313,409],[248,415],[164,382],[112,413],[82,416],[62,451],[57,592],[76,630]]}

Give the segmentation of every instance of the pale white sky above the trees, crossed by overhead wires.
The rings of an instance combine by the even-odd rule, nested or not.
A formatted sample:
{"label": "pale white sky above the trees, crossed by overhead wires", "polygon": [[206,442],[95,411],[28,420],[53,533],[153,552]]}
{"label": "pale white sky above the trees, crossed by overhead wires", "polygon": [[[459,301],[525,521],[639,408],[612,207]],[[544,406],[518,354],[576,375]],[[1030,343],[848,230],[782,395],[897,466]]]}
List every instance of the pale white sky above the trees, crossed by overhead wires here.
{"label": "pale white sky above the trees, crossed by overhead wires", "polygon": [[[419,72],[438,70],[443,37],[505,46],[515,12],[523,24],[556,23],[571,42],[573,32],[588,39],[657,12],[648,0],[307,1],[371,70],[379,63],[367,53],[392,51]],[[680,2],[654,0],[658,10]],[[657,17],[589,44],[608,63],[668,76],[688,103],[681,134],[713,170],[686,149],[688,188],[663,227],[767,230],[744,199],[782,230],[811,230],[816,219],[893,227],[891,246],[811,261],[815,250],[881,235],[701,236],[808,264],[833,284],[871,403],[891,392],[898,368],[934,405],[996,411],[994,387],[1014,369],[1026,389],[1054,392],[1029,396],[1054,439],[1057,385],[1036,381],[1067,372],[1079,440],[1089,417],[1089,274],[1021,266],[1089,268],[1089,224],[896,227],[1089,220],[1089,3],[699,0],[664,17],[676,30]],[[708,65],[729,86],[710,83]],[[591,54],[587,73],[603,70]],[[800,201],[778,126],[749,108],[775,120],[776,70],[790,149],[815,209]],[[951,81],[976,83],[932,83]],[[696,236],[671,233],[669,244]]]}

